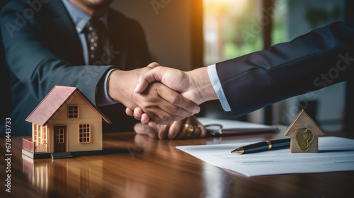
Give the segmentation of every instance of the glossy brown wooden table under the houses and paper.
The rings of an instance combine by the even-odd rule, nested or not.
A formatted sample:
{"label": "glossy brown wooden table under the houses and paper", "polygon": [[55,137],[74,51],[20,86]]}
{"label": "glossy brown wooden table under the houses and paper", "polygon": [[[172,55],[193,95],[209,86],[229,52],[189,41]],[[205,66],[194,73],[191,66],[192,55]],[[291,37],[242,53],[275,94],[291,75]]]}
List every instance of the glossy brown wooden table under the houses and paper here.
{"label": "glossy brown wooden table under the houses and paper", "polygon": [[[354,138],[353,133],[329,135]],[[21,154],[22,137],[11,137],[11,193],[5,192],[2,138],[0,197],[353,197],[354,171],[246,177],[176,148],[275,138],[257,134],[171,141],[112,133],[103,137],[111,154],[33,161]]]}

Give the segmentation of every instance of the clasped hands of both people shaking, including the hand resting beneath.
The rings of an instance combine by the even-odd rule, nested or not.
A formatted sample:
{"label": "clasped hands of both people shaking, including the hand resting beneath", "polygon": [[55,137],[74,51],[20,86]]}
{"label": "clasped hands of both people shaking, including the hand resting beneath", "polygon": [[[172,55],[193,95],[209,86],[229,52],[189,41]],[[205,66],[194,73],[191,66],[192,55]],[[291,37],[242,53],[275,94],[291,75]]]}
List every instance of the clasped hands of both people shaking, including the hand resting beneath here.
{"label": "clasped hands of both people shaking, including the hand resting beneath", "polygon": [[[200,112],[201,103],[218,99],[206,67],[185,72],[155,62],[132,71],[113,71],[108,94],[127,107],[127,115],[141,120],[135,132],[157,134],[160,139],[205,136],[205,128],[193,115]],[[198,132],[190,133],[190,127]]]}

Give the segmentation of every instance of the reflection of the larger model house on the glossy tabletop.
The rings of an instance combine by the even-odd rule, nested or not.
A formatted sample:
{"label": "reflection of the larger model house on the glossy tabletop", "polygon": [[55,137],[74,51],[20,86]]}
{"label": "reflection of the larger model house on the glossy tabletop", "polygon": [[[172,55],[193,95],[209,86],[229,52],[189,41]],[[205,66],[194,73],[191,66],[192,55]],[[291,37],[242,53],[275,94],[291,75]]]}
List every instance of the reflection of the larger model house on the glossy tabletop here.
{"label": "reflection of the larger model house on the glossy tabletop", "polygon": [[103,184],[102,160],[90,160],[86,163],[73,158],[33,160],[22,155],[22,161],[23,174],[27,175],[33,187],[44,194],[68,190],[85,197],[94,193],[93,185]]}

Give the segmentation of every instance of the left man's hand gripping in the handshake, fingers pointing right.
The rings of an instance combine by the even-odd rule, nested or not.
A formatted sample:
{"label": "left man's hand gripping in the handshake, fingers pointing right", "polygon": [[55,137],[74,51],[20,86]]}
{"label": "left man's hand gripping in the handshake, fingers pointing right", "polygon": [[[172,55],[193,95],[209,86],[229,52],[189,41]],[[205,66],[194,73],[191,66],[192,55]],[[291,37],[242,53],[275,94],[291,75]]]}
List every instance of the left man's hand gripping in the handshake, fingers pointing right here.
{"label": "left man's hand gripping in the handshake, fingers pointing right", "polygon": [[159,124],[171,124],[200,111],[198,105],[161,83],[152,83],[141,94],[134,93],[139,75],[150,69],[144,67],[132,71],[113,71],[108,85],[110,98],[130,109],[140,107],[150,119]]}

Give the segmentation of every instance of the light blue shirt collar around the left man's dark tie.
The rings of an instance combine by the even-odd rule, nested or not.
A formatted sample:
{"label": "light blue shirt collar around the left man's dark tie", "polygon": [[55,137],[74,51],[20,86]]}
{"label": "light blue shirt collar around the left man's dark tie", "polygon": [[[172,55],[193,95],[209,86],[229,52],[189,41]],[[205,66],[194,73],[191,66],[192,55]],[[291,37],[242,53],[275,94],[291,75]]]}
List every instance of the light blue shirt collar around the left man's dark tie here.
{"label": "light blue shirt collar around the left man's dark tie", "polygon": [[[72,2],[70,2],[69,0],[62,0],[62,2],[64,4],[65,8],[67,8],[69,16],[72,18],[72,21],[75,24],[75,29],[76,29],[77,33],[82,33],[87,22],[89,22],[91,20],[91,16],[88,13],[86,13],[85,11],[83,11],[80,8],[78,8],[77,6],[75,6],[74,4],[72,4]],[[106,11],[103,14],[103,16],[98,18],[101,21],[103,21],[103,23],[105,24],[105,28],[107,28],[107,16],[108,16],[107,13],[108,12]]]}

